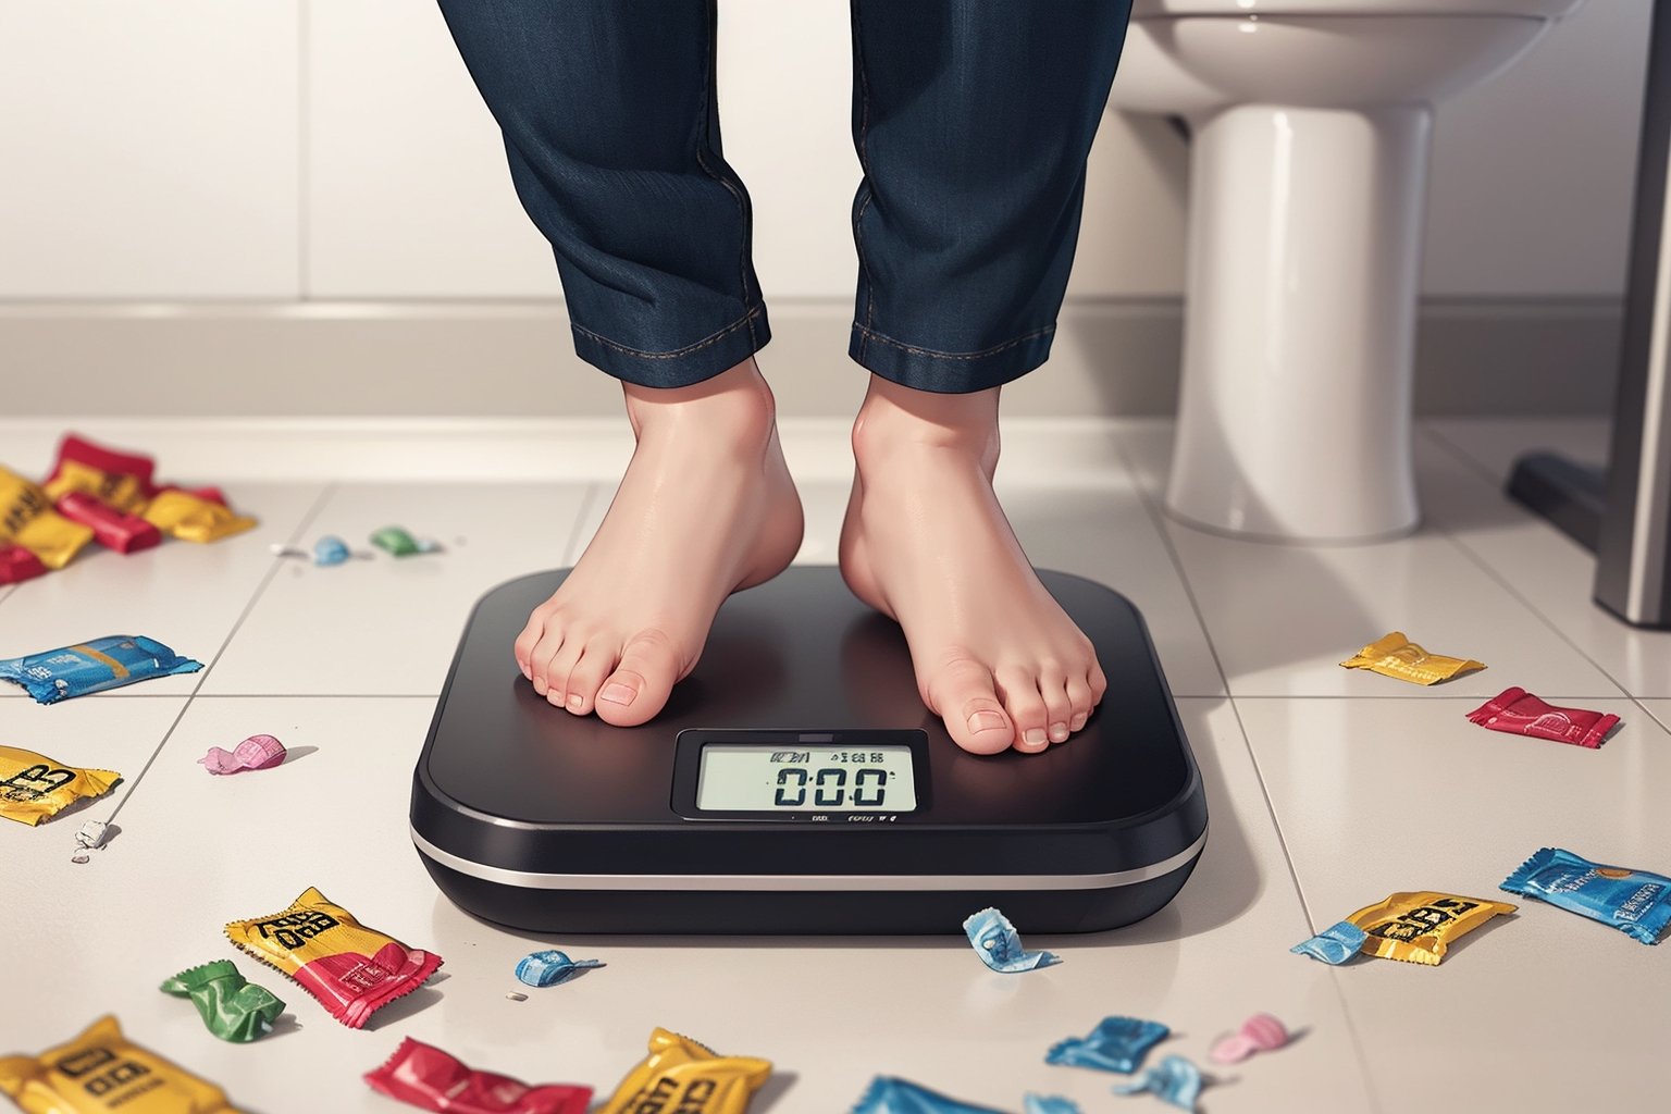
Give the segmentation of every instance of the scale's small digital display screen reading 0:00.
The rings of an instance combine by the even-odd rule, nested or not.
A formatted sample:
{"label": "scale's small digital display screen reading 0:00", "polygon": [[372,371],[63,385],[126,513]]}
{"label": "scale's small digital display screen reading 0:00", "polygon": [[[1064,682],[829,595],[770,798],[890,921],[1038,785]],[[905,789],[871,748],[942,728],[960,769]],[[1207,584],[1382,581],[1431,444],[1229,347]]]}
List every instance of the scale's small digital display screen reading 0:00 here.
{"label": "scale's small digital display screen reading 0:00", "polygon": [[911,747],[703,743],[703,812],[912,812]]}

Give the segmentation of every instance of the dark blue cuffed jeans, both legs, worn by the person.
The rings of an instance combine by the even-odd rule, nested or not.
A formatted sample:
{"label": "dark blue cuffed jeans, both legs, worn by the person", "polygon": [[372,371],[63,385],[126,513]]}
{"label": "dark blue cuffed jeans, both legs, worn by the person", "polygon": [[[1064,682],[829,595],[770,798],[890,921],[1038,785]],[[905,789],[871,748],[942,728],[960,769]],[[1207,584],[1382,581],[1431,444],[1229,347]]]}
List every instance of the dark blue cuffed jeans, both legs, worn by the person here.
{"label": "dark blue cuffed jeans, both legs, worn by the person", "polygon": [[[1049,356],[1130,7],[852,0],[861,366],[961,392]],[[720,150],[715,0],[441,10],[555,249],[575,352],[678,387],[764,347],[749,190]]]}

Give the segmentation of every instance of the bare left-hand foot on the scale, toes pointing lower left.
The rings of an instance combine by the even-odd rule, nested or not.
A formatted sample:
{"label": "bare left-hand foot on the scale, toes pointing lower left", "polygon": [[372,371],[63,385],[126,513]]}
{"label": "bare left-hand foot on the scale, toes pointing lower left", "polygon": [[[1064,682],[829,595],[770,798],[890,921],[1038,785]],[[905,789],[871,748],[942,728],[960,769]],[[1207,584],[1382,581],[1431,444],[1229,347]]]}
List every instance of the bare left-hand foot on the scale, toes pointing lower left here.
{"label": "bare left-hand foot on the scale, toes pointing lower left", "polygon": [[516,638],[536,693],[617,727],[662,710],[725,596],[777,576],[802,533],[754,357],[692,387],[625,391],[632,464],[575,571]]}

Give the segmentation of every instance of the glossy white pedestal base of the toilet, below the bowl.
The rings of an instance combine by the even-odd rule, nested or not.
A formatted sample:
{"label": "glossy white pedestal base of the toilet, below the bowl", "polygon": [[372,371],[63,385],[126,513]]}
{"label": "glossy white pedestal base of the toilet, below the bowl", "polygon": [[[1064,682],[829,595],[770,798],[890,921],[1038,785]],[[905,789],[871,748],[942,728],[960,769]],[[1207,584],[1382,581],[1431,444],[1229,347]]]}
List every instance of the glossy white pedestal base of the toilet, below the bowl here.
{"label": "glossy white pedestal base of the toilet, below the bowl", "polygon": [[1430,120],[1424,105],[1196,120],[1175,516],[1305,541],[1415,526]]}

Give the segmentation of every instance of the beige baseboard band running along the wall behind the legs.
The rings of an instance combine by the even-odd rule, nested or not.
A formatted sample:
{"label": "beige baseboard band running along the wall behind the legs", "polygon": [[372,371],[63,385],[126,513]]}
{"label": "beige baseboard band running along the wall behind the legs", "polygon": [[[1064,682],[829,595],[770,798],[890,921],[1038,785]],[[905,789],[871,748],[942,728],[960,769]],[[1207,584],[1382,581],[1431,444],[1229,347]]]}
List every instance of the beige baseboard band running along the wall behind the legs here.
{"label": "beige baseboard band running along the wall behind the legs", "polygon": [[[851,416],[851,304],[774,299],[760,366],[789,416]],[[1014,416],[1168,414],[1178,299],[1071,297],[1049,362],[1004,389]],[[1601,414],[1618,371],[1611,299],[1430,299],[1422,414]],[[0,418],[620,413],[551,302],[0,302]]]}

